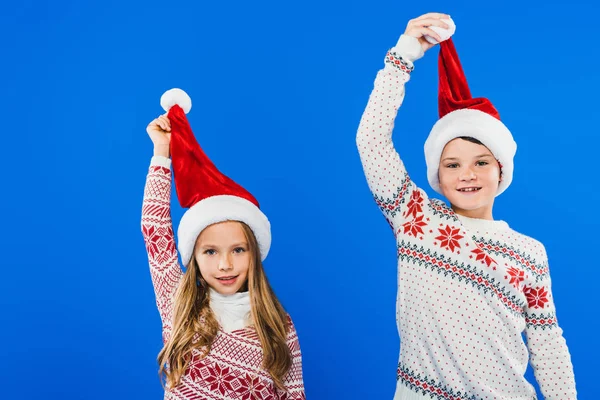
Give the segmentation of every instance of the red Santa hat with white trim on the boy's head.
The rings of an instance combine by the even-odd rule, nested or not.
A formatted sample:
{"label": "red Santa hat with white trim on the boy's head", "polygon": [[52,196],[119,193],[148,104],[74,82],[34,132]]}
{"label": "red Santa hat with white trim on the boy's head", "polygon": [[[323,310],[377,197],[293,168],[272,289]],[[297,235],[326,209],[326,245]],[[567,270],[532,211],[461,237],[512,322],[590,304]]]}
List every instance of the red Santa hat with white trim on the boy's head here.
{"label": "red Santa hat with white trim on the boy's head", "polygon": [[492,103],[473,98],[452,39],[440,43],[438,61],[438,102],[440,119],[425,142],[427,178],[441,193],[438,170],[442,151],[457,137],[470,136],[483,143],[500,163],[502,181],[496,196],[504,192],[513,177],[513,157],[517,144]]}

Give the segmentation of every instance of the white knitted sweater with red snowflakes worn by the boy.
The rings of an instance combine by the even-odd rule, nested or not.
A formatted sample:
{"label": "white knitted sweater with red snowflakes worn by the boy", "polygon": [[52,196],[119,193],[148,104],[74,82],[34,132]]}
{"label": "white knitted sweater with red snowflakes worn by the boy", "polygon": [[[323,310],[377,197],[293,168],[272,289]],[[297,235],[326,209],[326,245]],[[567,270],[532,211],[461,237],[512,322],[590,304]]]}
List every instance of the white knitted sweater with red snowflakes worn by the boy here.
{"label": "white knitted sweater with red snowflakes worn by the boy", "polygon": [[394,148],[412,70],[396,48],[388,52],[357,134],[369,187],[396,236],[394,398],[535,399],[524,378],[529,360],[546,399],[576,399],[544,246],[505,222],[462,217],[430,199]]}

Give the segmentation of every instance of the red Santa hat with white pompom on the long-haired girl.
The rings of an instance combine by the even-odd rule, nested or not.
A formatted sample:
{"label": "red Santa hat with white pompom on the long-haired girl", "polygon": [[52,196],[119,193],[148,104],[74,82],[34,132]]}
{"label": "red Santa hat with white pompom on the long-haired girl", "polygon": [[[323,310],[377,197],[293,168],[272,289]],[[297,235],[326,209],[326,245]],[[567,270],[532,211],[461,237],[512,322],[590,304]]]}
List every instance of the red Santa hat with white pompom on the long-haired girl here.
{"label": "red Santa hat with white pompom on the long-haired girl", "polygon": [[171,122],[171,159],[179,204],[188,210],[177,229],[183,265],[190,262],[198,235],[209,225],[240,221],[254,232],[261,259],[271,247],[271,225],[258,201],[246,189],[222,174],[206,156],[185,114],[192,108],[190,97],[171,89],[160,99]]}

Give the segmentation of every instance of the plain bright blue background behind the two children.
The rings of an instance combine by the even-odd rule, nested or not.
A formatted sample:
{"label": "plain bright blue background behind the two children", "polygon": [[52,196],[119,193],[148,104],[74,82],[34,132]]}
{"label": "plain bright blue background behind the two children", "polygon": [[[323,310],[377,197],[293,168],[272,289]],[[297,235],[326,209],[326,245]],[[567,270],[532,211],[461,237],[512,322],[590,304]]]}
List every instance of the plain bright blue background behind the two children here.
{"label": "plain bright blue background behind the two children", "polygon": [[[391,399],[394,238],[355,134],[386,50],[428,11],[453,16],[473,93],[518,142],[495,217],[546,245],[579,398],[596,398],[600,6],[583,0],[3,4],[0,397],[162,398],[139,219],[145,127],[181,87],[206,152],[271,219],[308,398]],[[433,50],[395,134],[423,187],[436,91]]]}

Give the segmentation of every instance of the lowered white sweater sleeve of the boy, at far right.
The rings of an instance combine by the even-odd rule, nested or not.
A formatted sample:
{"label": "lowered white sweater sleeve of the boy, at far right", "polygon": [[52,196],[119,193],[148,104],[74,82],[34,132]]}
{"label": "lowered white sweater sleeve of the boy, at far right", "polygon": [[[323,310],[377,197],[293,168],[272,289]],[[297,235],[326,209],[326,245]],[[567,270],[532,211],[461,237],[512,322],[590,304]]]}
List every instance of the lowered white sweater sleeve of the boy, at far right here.
{"label": "lowered white sweater sleeve of the boy, at far right", "polygon": [[[545,250],[544,262],[547,265]],[[525,336],[540,390],[546,400],[576,400],[573,364],[556,319],[549,272],[523,290],[527,297]]]}

